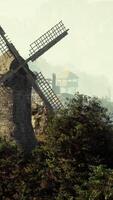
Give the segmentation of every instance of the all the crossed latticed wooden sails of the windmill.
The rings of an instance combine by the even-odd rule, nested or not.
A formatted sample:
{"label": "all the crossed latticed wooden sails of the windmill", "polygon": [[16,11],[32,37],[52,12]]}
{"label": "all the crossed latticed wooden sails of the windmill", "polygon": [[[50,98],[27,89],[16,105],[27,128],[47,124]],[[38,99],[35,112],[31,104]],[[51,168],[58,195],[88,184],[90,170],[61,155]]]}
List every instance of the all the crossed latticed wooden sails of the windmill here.
{"label": "all the crossed latticed wooden sails of the windmill", "polygon": [[37,79],[35,80],[33,73],[28,70],[26,64],[29,61],[34,61],[42,54],[44,54],[48,49],[58,43],[62,38],[64,38],[68,34],[68,30],[65,28],[62,21],[52,27],[48,32],[42,35],[38,40],[33,42],[30,46],[30,57],[26,60],[23,60],[14,45],[9,42],[7,37],[5,36],[5,32],[0,26],[0,39],[1,39],[1,52],[3,53],[10,53],[19,63],[19,66],[15,69],[7,72],[5,75],[2,76],[0,79],[0,85],[6,81],[7,79],[11,78],[14,74],[18,72],[20,68],[23,68],[26,72],[26,75],[31,82],[32,86],[36,90],[36,92],[40,95],[42,100],[45,102],[46,106],[49,109],[55,110],[60,109],[62,104],[58,97],[54,94],[51,87],[47,83],[46,79],[43,77],[41,73],[37,74]]}

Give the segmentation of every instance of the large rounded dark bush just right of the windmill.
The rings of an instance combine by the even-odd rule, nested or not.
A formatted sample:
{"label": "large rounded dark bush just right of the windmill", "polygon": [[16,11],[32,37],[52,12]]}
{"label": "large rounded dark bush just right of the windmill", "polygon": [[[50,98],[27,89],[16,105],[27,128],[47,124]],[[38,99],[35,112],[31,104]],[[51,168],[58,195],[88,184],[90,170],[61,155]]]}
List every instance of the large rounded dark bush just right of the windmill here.
{"label": "large rounded dark bush just right of the windmill", "polygon": [[50,119],[47,145],[59,158],[108,164],[112,130],[107,109],[97,98],[76,95],[66,109]]}

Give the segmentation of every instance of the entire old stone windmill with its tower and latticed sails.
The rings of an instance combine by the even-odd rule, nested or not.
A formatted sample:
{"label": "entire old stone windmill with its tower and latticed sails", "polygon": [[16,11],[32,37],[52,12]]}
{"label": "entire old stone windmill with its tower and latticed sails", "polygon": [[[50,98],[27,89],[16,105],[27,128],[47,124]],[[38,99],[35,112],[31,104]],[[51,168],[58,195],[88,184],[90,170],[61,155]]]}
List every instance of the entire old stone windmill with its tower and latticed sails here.
{"label": "entire old stone windmill with its tower and latticed sails", "polygon": [[30,56],[24,60],[0,26],[0,136],[14,138],[25,151],[37,144],[31,124],[32,87],[49,110],[62,107],[42,73],[34,74],[28,63],[38,59],[67,34],[68,30],[60,21],[30,45]]}

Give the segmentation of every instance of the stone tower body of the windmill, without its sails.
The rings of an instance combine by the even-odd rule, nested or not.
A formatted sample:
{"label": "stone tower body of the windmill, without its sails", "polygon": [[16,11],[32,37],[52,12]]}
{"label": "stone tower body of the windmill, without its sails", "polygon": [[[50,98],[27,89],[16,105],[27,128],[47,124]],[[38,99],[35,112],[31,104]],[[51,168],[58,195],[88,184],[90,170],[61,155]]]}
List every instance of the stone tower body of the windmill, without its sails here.
{"label": "stone tower body of the windmill, without its sails", "polygon": [[[0,76],[17,66],[16,60],[2,56]],[[37,144],[31,124],[31,85],[23,69],[0,86],[0,135],[13,138],[25,151]]]}

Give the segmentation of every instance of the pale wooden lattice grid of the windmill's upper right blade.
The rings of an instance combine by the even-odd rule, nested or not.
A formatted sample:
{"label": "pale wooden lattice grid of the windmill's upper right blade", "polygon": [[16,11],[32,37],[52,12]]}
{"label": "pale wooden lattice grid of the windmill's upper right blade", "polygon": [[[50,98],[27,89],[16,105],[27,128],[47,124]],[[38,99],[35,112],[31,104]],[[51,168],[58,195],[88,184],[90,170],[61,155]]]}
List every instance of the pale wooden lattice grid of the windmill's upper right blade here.
{"label": "pale wooden lattice grid of the windmill's upper right blade", "polygon": [[56,24],[54,27],[52,27],[49,31],[47,31],[44,35],[42,35],[39,39],[34,41],[32,44],[30,44],[30,56],[34,55],[37,51],[44,48],[47,44],[55,40],[57,37],[59,37],[61,34],[66,32],[66,28],[62,21],[60,21],[58,24]]}

